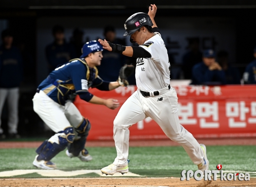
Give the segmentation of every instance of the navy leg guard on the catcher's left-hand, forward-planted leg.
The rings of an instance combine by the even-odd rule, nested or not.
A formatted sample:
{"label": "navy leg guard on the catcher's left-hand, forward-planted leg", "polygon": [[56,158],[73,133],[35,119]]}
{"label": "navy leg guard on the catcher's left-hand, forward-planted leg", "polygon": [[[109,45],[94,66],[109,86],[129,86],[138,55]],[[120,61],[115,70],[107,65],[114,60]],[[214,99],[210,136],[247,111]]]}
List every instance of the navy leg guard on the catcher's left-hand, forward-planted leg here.
{"label": "navy leg guard on the catcher's left-hand, forward-planted leg", "polygon": [[63,151],[68,146],[68,143],[73,143],[75,137],[73,132],[72,127],[68,127],[63,131],[58,132],[65,134],[59,136],[59,144],[45,140],[35,151],[38,154],[37,160],[50,161],[59,152]]}

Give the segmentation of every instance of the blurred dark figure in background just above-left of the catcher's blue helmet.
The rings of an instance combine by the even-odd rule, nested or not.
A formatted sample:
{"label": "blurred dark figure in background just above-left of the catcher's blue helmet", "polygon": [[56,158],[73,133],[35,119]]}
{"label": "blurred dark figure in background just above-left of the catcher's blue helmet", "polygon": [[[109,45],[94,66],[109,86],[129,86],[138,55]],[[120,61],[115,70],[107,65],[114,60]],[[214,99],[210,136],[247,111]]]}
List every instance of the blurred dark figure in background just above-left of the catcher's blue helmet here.
{"label": "blurred dark figure in background just above-left of the catcher's blue helmet", "polygon": [[76,56],[80,57],[82,55],[82,47],[83,47],[83,31],[79,28],[76,28],[73,31],[73,36],[71,38],[70,43],[75,47]]}

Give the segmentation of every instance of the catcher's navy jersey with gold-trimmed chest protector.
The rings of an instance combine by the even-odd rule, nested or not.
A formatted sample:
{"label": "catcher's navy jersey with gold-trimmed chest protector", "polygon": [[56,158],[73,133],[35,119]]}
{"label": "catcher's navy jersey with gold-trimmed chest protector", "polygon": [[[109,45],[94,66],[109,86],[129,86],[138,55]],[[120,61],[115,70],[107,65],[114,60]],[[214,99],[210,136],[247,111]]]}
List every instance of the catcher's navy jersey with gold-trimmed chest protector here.
{"label": "catcher's navy jersey with gold-trimmed chest protector", "polygon": [[103,81],[98,76],[96,67],[90,68],[83,58],[72,59],[70,62],[57,67],[38,86],[47,96],[60,105],[70,99],[72,94],[86,93],[86,101],[90,101],[93,94],[88,93],[90,87],[97,87],[100,90],[108,86],[109,82]]}

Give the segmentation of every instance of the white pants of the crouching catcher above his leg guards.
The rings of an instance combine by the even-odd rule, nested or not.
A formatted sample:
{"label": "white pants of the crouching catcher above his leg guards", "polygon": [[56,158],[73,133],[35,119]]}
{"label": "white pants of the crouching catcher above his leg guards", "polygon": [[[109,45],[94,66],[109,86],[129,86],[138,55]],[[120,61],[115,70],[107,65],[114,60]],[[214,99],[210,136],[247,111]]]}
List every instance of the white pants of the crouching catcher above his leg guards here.
{"label": "white pants of the crouching catcher above his leg guards", "polygon": [[[54,132],[53,135],[48,141],[52,143],[59,144],[59,137],[64,135],[64,133],[57,133],[68,126],[78,127],[83,122],[83,116],[76,108],[76,106],[71,102],[66,102],[65,106],[58,104],[53,101],[49,96],[47,96],[44,91],[40,90],[39,93],[36,93],[33,98],[34,111],[38,116],[45,122],[46,125],[50,127]],[[77,138],[77,132],[75,139]]]}

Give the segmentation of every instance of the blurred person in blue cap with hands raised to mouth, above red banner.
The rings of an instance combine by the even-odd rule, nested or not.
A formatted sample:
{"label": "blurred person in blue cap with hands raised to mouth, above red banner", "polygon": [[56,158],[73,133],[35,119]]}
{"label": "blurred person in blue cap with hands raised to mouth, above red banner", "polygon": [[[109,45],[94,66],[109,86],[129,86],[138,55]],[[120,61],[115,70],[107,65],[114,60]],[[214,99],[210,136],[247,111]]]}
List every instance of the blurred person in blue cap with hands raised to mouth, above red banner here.
{"label": "blurred person in blue cap with hands raised to mouth, above red banner", "polygon": [[204,50],[203,62],[192,68],[192,85],[223,85],[226,84],[222,67],[215,62],[215,52]]}

